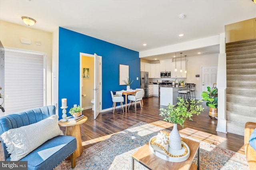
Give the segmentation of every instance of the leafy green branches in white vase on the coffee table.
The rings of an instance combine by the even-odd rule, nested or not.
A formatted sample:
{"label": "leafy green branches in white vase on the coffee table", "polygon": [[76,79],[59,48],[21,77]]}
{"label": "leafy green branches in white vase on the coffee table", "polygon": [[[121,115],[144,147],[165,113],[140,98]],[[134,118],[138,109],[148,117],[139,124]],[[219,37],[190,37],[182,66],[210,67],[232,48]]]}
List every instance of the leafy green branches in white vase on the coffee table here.
{"label": "leafy green branches in white vase on the coffee table", "polygon": [[202,100],[191,100],[190,103],[184,98],[178,97],[176,105],[168,104],[167,108],[160,108],[160,115],[165,116],[164,121],[173,123],[173,129],[169,136],[169,147],[172,149],[180,150],[182,149],[181,137],[178,132],[177,124],[184,127],[184,122],[187,118],[192,120],[193,115],[199,115],[201,111],[204,111],[204,108],[200,103]]}

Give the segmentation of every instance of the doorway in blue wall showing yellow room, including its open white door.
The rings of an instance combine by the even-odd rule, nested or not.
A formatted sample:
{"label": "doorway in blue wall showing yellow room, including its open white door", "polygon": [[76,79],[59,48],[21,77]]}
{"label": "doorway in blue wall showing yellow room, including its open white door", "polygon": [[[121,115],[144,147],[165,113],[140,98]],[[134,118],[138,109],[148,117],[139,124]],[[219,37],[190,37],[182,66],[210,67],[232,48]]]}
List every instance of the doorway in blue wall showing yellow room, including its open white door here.
{"label": "doorway in blue wall showing yellow room, including its open white door", "polygon": [[[92,109],[94,119],[102,111],[101,69],[101,56],[80,53],[80,106],[84,109]],[[94,106],[92,100],[94,100]]]}

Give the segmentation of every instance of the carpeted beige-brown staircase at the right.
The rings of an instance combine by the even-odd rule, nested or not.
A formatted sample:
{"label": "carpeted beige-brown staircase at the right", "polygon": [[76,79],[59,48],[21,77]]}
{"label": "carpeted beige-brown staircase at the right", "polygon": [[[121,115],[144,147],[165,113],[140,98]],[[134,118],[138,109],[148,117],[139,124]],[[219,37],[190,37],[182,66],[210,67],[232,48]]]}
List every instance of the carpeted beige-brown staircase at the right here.
{"label": "carpeted beige-brown staircase at the right", "polygon": [[256,122],[256,39],[226,43],[227,132],[244,136],[244,125]]}

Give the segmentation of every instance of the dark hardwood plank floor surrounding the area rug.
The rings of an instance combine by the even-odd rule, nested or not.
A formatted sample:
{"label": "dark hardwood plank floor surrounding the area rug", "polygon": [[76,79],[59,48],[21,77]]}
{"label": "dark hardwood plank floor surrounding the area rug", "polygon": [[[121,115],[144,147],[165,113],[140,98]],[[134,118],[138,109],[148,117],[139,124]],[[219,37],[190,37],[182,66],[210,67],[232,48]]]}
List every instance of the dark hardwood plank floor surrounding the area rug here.
{"label": "dark hardwood plank floor surrounding the area rug", "polygon": [[[163,120],[163,117],[159,115],[160,98],[153,96],[143,99],[143,102],[143,109],[140,109],[139,104],[137,104],[136,112],[134,107],[130,107],[127,113],[123,113],[118,108],[114,114],[112,110],[100,113],[95,120],[92,109],[84,110],[82,113],[88,117],[88,120],[81,125],[83,149],[91,147],[140,121],[154,123]],[[244,137],[232,133],[216,132],[217,120],[210,119],[208,108],[204,102],[202,105],[205,107],[203,113],[193,116],[193,121],[186,120],[183,129],[178,125],[180,134],[244,154]],[[60,129],[65,133],[65,127],[60,127]],[[166,129],[171,131],[172,127]],[[3,160],[2,145],[0,145],[0,160]]]}

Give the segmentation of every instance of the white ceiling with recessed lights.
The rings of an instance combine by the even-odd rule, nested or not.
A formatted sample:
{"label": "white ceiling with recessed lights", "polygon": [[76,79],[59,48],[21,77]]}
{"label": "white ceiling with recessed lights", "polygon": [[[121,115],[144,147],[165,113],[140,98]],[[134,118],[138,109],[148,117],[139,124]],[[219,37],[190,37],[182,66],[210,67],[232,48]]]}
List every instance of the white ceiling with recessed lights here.
{"label": "white ceiling with recessed lights", "polygon": [[[185,18],[179,19],[180,14]],[[251,0],[0,0],[0,20],[25,25],[22,16],[37,21],[30,26],[34,29],[54,32],[60,26],[140,52],[224,33],[224,25],[255,18],[256,4]],[[219,53],[216,47],[200,50]]]}

